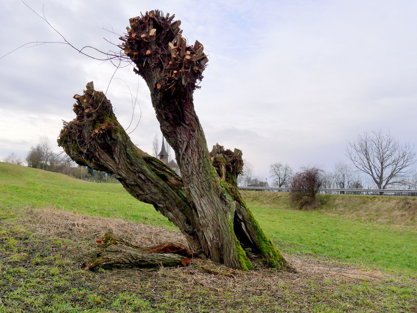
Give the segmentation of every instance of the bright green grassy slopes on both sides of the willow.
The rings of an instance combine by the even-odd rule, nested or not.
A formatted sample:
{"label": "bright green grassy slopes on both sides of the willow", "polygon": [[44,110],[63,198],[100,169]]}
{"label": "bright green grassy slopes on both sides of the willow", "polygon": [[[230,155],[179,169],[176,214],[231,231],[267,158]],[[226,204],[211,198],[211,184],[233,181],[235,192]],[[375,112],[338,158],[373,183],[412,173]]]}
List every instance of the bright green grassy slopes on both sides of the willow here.
{"label": "bright green grassy slopes on both sides of the willow", "polygon": [[[151,205],[133,199],[121,185],[116,184],[87,183],[63,174],[0,163],[0,194],[0,205],[7,207],[50,206],[173,228]],[[333,196],[326,200],[325,210],[300,211],[289,210],[288,201],[278,193],[245,194],[265,232],[284,252],[337,257],[348,263],[406,275],[417,273],[417,232],[414,227],[380,225],[328,214],[340,212],[337,211],[340,199],[358,196]],[[338,204],[332,204],[332,201]],[[351,203],[352,200],[345,202]],[[354,209],[350,207],[349,210]]]}

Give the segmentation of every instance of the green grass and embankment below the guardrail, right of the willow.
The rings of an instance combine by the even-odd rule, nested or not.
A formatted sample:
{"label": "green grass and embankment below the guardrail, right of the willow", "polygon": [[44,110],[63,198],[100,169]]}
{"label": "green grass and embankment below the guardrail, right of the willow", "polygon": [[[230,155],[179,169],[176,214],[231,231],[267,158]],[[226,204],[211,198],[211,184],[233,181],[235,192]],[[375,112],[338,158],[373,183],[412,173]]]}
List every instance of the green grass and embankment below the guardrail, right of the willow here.
{"label": "green grass and embankment below the guardrail, right of the willow", "polygon": [[[417,229],[394,223],[373,222],[377,217],[363,216],[375,212],[375,204],[391,203],[387,207],[398,212],[404,199],[379,196],[319,195],[321,210],[291,210],[288,194],[278,192],[245,192],[249,207],[264,231],[284,252],[312,253],[337,257],[348,263],[398,271],[406,275],[417,273]],[[385,200],[385,201],[384,201]],[[415,199],[409,200],[414,203]],[[340,218],[334,212],[342,204],[349,217]],[[356,215],[354,207],[357,206]],[[361,207],[362,206],[362,207]],[[361,208],[363,209],[362,212]],[[404,210],[408,210],[407,208]],[[415,212],[415,210],[414,210]],[[383,213],[384,215],[387,212]]]}

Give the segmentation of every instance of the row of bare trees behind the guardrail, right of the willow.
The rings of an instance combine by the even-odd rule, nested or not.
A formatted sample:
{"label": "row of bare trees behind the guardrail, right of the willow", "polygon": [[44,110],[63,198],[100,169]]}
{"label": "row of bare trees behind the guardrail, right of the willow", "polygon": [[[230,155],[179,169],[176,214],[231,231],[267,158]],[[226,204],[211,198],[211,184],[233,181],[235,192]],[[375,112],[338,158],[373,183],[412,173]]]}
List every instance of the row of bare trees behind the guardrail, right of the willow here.
{"label": "row of bare trees behind the guardrail, right of the willow", "polygon": [[[414,145],[399,144],[388,132],[364,132],[347,143],[347,161],[335,162],[332,171],[321,166],[302,166],[294,173],[289,164],[276,162],[269,166],[271,187],[299,186],[300,177],[314,169],[320,188],[337,189],[417,189]],[[239,177],[240,186],[267,187],[266,179],[254,176],[253,167],[246,164]],[[365,186],[365,187],[364,187]]]}

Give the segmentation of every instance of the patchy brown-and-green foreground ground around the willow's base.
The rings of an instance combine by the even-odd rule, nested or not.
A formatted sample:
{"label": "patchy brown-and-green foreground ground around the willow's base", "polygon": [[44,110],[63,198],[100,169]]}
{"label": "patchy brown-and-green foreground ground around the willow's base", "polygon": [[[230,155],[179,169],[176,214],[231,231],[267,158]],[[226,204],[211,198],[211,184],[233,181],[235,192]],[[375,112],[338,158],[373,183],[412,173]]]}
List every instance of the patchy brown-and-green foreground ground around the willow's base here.
{"label": "patchy brown-and-green foreground ground around the willow's base", "polygon": [[[26,308],[25,312],[43,311],[38,308],[45,304],[38,299],[45,298],[45,294],[48,295],[46,299],[53,299],[63,292],[65,303],[70,301],[71,308],[77,303],[88,311],[100,308],[97,312],[330,313],[417,310],[415,298],[410,298],[409,291],[405,298],[397,291],[409,290],[410,280],[335,260],[286,255],[299,269],[296,274],[258,266],[251,271],[236,271],[233,277],[213,275],[201,266],[221,272],[231,272],[231,269],[200,259],[191,260],[188,267],[159,268],[156,271],[124,269],[90,272],[81,270],[80,264],[99,250],[95,239],[106,232],[113,232],[137,245],[166,241],[185,243],[184,237],[180,232],[162,227],[53,209],[23,210],[13,222],[4,220],[2,227],[7,234],[14,234],[17,238],[14,252],[6,249],[3,257],[3,270],[9,273],[8,280],[0,283],[3,286],[0,293],[7,294],[3,298],[8,301],[5,308],[10,308],[5,312],[19,312],[13,308]],[[23,229],[31,235],[19,234],[24,232]],[[16,261],[18,254],[25,257]],[[32,255],[45,257],[39,261],[42,266],[34,265]],[[12,257],[15,259],[12,260]],[[61,263],[55,264],[55,259]],[[49,273],[51,268],[54,276],[49,278],[45,273]],[[17,288],[25,279],[29,281],[24,285],[37,282],[38,295],[34,300],[23,303],[19,299],[29,299],[34,292],[33,289],[25,291]],[[48,283],[48,279],[52,283]],[[45,286],[42,287],[42,284]],[[115,306],[121,297],[127,300]],[[138,300],[132,299],[146,301],[145,306],[141,310],[134,309],[132,305]],[[46,302],[46,307],[55,305],[51,301]]]}

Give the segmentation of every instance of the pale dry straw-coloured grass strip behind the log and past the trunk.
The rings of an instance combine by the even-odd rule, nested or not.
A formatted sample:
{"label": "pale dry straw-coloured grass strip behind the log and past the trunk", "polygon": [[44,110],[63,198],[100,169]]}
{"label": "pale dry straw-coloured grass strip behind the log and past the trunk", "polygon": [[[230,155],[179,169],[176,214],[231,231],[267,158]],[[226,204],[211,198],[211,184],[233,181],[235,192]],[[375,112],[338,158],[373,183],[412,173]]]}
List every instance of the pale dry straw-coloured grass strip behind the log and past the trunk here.
{"label": "pale dry straw-coloured grass strip behind the log and past the trunk", "polygon": [[[114,235],[122,237],[134,245],[151,246],[161,242],[178,242],[186,245],[185,237],[183,237],[179,231],[128,222],[121,219],[78,215],[51,208],[30,209],[16,222],[29,226],[37,235],[59,237],[64,240],[70,239],[73,243],[90,242],[90,251],[100,248],[99,245],[95,243],[95,240],[102,237],[106,232],[112,232]],[[284,282],[285,280],[286,283],[297,280],[300,277],[308,277],[310,279],[317,278],[319,280],[330,278],[339,278],[341,280],[366,279],[378,282],[381,282],[381,279],[388,277],[382,272],[364,271],[352,266],[340,265],[330,260],[324,261],[311,257],[297,257],[294,255],[286,255],[285,257],[299,270],[298,275],[294,276],[293,274],[283,273],[282,271],[278,271],[277,273],[275,270],[256,267],[256,270],[253,271],[239,272],[239,277],[245,278],[244,283],[239,285],[243,286],[246,284],[246,287],[249,287],[254,282],[259,283],[262,281],[265,283],[268,281],[267,278],[263,277],[265,273],[268,273],[268,275],[273,273],[274,275],[272,275],[272,277],[274,278],[272,280],[275,281],[275,279],[278,279],[278,282]],[[192,270],[196,272],[196,275],[192,276],[190,283],[200,282],[203,283],[203,285],[204,283],[209,285],[214,281],[217,282],[216,285],[221,285],[223,281],[228,281],[230,283],[229,278],[217,275],[207,275],[206,272],[199,268],[200,266],[205,266],[226,272],[231,269],[209,260],[193,259],[191,263],[191,268],[176,268],[174,270],[164,268],[161,273],[171,273],[172,271],[175,271],[178,274],[189,274],[188,272]],[[186,275],[186,277],[190,277],[190,275]],[[234,282],[236,283],[236,281],[240,280],[238,279]]]}

